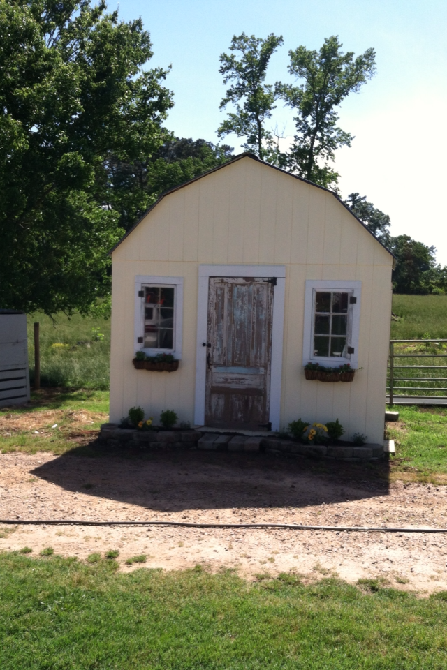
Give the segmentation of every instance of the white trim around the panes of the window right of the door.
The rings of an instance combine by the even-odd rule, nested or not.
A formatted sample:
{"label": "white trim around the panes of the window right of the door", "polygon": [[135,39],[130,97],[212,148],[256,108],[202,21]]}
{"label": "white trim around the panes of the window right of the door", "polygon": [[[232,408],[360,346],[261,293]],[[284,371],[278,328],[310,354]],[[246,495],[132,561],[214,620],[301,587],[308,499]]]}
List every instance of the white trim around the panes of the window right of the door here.
{"label": "white trim around the panes of the window right of the door", "polygon": [[[356,304],[351,306],[351,324],[348,335],[348,345],[354,348],[349,357],[314,356],[314,290],[322,291],[349,291],[357,298]],[[358,341],[360,332],[360,297],[362,293],[361,281],[332,281],[307,279],[305,288],[304,334],[302,338],[302,364],[321,363],[322,365],[337,366],[349,363],[353,369],[358,367]]]}

